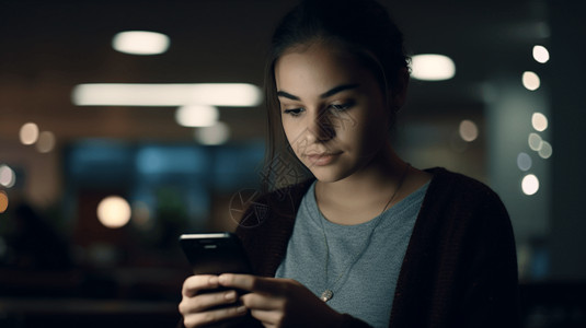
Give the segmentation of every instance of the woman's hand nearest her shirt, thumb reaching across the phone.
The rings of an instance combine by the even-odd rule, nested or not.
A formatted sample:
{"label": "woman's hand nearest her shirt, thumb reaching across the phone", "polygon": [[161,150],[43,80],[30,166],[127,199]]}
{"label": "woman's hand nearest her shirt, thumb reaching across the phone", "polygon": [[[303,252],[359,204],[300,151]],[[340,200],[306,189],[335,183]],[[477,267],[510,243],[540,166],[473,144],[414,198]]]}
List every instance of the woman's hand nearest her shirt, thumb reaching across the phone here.
{"label": "woman's hand nearest her shirt, thumb reaching across the phone", "polygon": [[240,297],[265,327],[336,327],[342,315],[291,279],[219,276],[220,285],[249,291]]}

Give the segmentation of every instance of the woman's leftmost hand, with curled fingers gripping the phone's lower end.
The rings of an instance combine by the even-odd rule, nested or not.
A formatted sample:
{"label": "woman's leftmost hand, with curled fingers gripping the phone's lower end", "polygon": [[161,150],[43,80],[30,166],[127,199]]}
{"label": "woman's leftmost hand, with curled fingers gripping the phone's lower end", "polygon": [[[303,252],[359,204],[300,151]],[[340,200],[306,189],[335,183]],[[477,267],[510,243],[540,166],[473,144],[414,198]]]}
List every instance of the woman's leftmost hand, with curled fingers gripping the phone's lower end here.
{"label": "woman's leftmost hand, with curled fingers gripping the phone's lower end", "polygon": [[[233,290],[202,293],[204,290],[214,290],[219,286],[217,276],[198,274],[185,279],[182,290],[183,300],[179,305],[179,312],[183,315],[185,327],[199,327],[228,318],[244,316],[248,313],[243,305],[235,303],[238,295]],[[234,305],[210,309],[222,304]]]}

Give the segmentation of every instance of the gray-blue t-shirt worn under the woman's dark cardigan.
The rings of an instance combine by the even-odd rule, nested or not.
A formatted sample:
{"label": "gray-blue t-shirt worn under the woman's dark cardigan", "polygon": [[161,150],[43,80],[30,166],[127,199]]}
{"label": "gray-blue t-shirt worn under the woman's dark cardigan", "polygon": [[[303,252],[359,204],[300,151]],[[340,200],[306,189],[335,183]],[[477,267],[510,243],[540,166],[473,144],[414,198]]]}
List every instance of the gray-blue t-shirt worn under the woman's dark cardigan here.
{"label": "gray-blue t-shirt worn under the woman's dark cardigan", "polygon": [[399,271],[428,185],[368,222],[340,225],[321,214],[313,183],[275,277],[295,279],[318,297],[329,289],[334,296],[328,305],[335,311],[388,327]]}

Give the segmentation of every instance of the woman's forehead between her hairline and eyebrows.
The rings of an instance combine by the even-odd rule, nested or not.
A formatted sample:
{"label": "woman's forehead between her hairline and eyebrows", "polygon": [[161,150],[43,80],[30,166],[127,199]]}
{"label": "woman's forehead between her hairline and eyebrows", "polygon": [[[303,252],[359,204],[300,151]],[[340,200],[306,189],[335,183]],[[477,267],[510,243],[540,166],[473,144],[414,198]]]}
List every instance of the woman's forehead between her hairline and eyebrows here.
{"label": "woman's forehead between her hairline and eyebrows", "polygon": [[352,55],[322,43],[292,48],[275,63],[277,90],[299,95],[321,94],[345,83],[365,83],[369,77]]}

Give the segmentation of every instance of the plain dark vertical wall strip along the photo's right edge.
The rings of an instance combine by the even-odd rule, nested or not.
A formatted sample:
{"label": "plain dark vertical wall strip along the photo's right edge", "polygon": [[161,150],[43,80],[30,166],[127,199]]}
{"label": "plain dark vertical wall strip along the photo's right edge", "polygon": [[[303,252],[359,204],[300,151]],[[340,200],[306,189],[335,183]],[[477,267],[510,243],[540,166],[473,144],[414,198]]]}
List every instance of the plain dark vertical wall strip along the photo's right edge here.
{"label": "plain dark vertical wall strip along the photo's right edge", "polygon": [[551,278],[586,279],[585,1],[549,0],[553,207]]}

